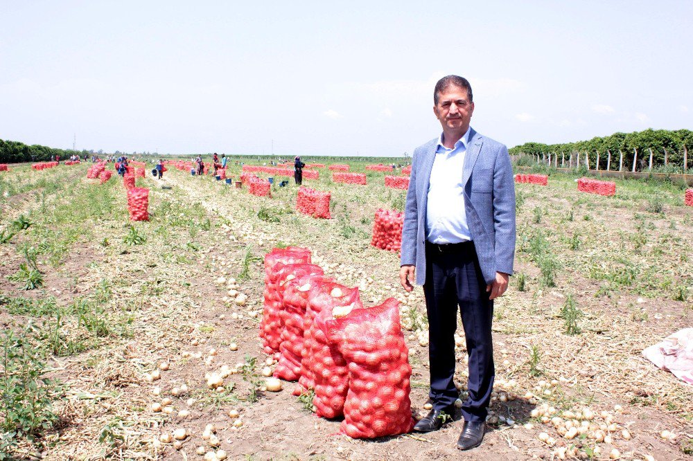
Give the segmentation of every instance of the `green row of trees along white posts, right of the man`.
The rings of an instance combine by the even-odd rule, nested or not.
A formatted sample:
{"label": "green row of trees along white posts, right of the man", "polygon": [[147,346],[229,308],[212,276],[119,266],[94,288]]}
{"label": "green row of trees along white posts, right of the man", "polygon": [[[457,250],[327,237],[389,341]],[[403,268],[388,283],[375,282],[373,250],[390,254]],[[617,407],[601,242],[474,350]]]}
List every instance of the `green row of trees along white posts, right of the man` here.
{"label": "green row of trees along white posts, right of the man", "polygon": [[[612,161],[619,159],[620,152],[623,153],[624,165],[628,165],[630,170],[633,165],[633,157],[637,155],[637,161],[649,163],[650,150],[652,150],[653,166],[675,165],[683,167],[684,154],[693,151],[693,132],[689,129],[646,129],[642,132],[633,133],[614,133],[610,136],[595,137],[589,141],[577,141],[574,143],[563,144],[543,144],[525,143],[516,145],[509,151],[511,155],[518,154],[537,154],[548,156],[557,154],[559,157],[565,154],[566,158],[570,154],[587,154],[590,165],[594,165],[597,156],[600,156],[600,163],[606,161],[606,155],[611,152]],[[693,159],[687,155],[690,168]]]}

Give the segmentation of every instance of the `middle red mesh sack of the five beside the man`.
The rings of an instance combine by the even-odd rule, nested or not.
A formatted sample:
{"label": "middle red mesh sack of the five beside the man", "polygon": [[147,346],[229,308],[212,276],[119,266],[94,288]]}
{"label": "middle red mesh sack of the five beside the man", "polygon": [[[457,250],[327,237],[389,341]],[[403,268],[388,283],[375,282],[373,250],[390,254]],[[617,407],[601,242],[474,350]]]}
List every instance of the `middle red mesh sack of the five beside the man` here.
{"label": "middle red mesh sack of the five beside the man", "polygon": [[274,376],[286,381],[297,381],[301,376],[301,359],[304,349],[304,317],[308,295],[315,284],[331,281],[319,273],[301,275],[287,280],[282,296],[281,338],[279,341],[279,363],[274,369]]}

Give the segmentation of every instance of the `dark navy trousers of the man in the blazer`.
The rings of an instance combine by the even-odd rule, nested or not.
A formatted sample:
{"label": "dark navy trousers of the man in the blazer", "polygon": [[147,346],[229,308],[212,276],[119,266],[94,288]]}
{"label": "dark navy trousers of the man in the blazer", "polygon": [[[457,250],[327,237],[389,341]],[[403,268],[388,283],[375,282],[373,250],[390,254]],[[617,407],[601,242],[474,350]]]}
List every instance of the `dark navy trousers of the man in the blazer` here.
{"label": "dark navy trousers of the man in the blazer", "polygon": [[462,404],[466,421],[484,421],[491,401],[493,367],[493,301],[486,293],[473,242],[455,244],[444,251],[426,244],[426,282],[423,294],[428,312],[428,356],[433,406],[441,410],[458,398],[455,373],[457,307],[462,317],[469,359],[469,397]]}

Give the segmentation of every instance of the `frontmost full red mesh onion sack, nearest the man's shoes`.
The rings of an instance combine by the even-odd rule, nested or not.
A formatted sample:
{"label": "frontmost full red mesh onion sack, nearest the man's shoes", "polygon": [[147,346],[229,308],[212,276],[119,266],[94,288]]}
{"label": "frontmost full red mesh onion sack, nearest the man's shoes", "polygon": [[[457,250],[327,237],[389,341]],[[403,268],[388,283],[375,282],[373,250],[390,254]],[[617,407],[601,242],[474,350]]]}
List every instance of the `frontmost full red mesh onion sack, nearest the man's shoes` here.
{"label": "frontmost full red mesh onion sack, nearest the man's shoes", "polygon": [[340,433],[372,439],[414,427],[409,350],[399,321],[399,302],[389,298],[327,321],[328,338],[346,359],[349,392]]}

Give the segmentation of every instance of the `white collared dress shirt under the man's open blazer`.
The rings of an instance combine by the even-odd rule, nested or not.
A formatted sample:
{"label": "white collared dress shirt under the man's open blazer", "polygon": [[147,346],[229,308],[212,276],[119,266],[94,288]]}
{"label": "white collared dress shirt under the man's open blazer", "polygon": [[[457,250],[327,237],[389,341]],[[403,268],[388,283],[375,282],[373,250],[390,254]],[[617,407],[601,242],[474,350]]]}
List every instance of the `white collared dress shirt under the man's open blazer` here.
{"label": "white collared dress shirt under the man's open blazer", "polygon": [[467,242],[472,239],[464,213],[462,169],[469,143],[469,132],[460,138],[455,147],[443,145],[443,135],[438,145],[431,170],[426,205],[426,239],[435,244]]}

